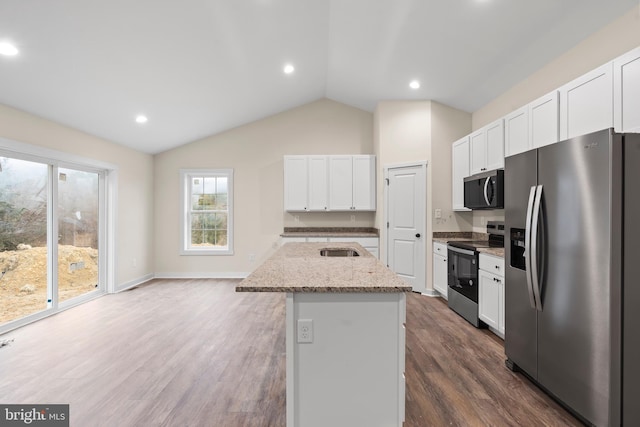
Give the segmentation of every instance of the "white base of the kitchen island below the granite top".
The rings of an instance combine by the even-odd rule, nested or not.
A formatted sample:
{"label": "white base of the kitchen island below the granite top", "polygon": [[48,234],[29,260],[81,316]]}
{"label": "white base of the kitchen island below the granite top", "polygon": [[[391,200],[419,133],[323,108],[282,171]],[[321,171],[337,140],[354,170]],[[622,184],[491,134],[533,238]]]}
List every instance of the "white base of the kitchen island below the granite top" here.
{"label": "white base of the kitchen island below the granite top", "polygon": [[[286,301],[287,426],[401,427],[405,294],[289,292]],[[312,321],[313,342],[299,342],[299,319]]]}

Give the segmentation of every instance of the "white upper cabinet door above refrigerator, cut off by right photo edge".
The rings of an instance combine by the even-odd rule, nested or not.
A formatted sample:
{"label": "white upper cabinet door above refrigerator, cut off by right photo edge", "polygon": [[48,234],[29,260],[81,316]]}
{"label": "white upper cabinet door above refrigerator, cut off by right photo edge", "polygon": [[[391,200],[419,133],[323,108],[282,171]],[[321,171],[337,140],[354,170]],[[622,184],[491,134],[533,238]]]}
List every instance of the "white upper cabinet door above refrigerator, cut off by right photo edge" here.
{"label": "white upper cabinet door above refrigerator, cut off by right photo edge", "polygon": [[613,61],[613,115],[618,132],[640,132],[640,48]]}

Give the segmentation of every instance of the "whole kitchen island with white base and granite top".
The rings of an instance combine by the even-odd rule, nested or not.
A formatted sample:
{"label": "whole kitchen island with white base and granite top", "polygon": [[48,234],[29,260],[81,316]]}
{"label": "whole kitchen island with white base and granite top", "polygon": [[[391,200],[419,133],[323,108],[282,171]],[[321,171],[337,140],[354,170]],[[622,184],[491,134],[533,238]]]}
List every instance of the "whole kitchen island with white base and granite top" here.
{"label": "whole kitchen island with white base and granite top", "polygon": [[357,243],[328,242],[287,243],[236,287],[287,294],[287,426],[402,426],[410,290]]}

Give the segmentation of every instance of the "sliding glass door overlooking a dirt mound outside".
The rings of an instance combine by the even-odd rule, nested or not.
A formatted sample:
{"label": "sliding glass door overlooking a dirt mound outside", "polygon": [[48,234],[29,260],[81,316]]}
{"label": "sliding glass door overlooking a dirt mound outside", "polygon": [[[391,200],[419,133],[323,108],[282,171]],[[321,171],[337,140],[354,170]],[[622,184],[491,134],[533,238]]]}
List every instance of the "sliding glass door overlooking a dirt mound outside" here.
{"label": "sliding glass door overlooking a dirt mound outside", "polygon": [[0,329],[104,291],[104,178],[0,157]]}

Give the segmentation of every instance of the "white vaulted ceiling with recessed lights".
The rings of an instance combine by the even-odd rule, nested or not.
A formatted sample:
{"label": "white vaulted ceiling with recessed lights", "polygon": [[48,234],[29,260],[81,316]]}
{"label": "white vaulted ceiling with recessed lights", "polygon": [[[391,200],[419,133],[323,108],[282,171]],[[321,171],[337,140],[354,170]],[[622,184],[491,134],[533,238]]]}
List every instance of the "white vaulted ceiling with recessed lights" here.
{"label": "white vaulted ceiling with recessed lights", "polygon": [[2,0],[0,103],[148,153],[322,97],[473,112],[637,4]]}

